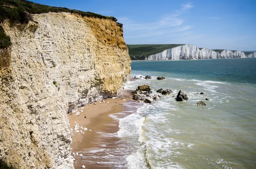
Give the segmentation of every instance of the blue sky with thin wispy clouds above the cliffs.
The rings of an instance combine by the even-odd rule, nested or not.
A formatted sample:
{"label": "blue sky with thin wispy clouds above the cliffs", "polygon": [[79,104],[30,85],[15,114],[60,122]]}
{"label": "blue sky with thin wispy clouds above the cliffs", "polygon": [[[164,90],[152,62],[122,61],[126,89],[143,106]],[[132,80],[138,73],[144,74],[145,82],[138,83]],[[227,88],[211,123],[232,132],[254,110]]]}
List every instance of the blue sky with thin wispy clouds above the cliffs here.
{"label": "blue sky with thin wispy clouds above the cliffs", "polygon": [[31,0],[116,17],[126,44],[256,50],[256,0]]}

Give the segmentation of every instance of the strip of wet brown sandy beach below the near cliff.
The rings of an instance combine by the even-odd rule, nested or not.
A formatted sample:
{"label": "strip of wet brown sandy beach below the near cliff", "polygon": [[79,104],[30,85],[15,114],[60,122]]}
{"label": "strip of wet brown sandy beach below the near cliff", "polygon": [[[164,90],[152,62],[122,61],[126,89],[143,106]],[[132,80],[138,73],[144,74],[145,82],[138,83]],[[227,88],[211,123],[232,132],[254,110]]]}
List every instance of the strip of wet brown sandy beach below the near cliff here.
{"label": "strip of wet brown sandy beach below the near cliff", "polygon": [[[102,137],[105,135],[116,134],[119,130],[119,121],[113,120],[110,115],[120,113],[128,109],[125,102],[134,102],[130,93],[122,93],[116,98],[109,98],[87,104],[76,108],[67,116],[70,120],[70,127],[73,129],[73,143],[71,144],[72,155],[76,159],[74,166],[76,169],[85,166],[86,169],[113,168],[111,165],[105,165],[108,159],[100,154],[103,149],[114,149],[119,143],[118,137]],[[127,114],[128,115],[128,114]],[[122,115],[125,117],[126,115]],[[76,130],[75,130],[76,128]],[[78,129],[79,128],[79,129]]]}

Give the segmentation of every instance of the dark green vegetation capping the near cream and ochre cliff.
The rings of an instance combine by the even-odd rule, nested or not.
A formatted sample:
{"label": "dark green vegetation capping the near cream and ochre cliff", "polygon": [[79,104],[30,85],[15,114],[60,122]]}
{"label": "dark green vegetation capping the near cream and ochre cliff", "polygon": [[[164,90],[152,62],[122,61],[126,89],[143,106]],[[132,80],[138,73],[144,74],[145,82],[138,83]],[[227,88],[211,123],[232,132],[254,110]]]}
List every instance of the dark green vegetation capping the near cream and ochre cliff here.
{"label": "dark green vegetation capping the near cream and ochre cliff", "polygon": [[[81,14],[82,17],[95,17],[102,19],[109,19],[117,21],[115,17],[103,16],[100,14],[94,14],[92,12],[84,12],[78,10],[71,10],[61,7],[53,7],[47,5],[41,5],[33,3],[27,0],[1,0],[0,1],[0,23],[3,20],[9,19],[13,23],[28,23],[32,20],[31,14],[41,14],[48,12],[70,12],[72,14]],[[121,23],[117,23],[118,26],[122,26]],[[10,38],[6,36],[2,26],[0,26],[0,49],[7,48],[11,45]]]}

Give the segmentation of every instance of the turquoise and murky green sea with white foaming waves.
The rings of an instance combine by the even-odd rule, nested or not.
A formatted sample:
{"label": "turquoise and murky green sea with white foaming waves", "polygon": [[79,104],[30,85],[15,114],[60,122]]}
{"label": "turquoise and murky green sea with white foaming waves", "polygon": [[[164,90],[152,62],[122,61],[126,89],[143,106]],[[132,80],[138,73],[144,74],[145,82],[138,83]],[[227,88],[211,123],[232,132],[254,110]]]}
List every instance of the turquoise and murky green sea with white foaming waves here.
{"label": "turquoise and murky green sea with white foaming waves", "polygon": [[[256,168],[255,65],[256,58],[132,62],[132,76],[152,79],[128,81],[125,89],[150,84],[153,93],[173,93],[136,103],[137,111],[119,120],[119,137],[133,147],[125,168]],[[175,101],[179,90],[189,100]],[[207,106],[196,106],[200,100]]]}

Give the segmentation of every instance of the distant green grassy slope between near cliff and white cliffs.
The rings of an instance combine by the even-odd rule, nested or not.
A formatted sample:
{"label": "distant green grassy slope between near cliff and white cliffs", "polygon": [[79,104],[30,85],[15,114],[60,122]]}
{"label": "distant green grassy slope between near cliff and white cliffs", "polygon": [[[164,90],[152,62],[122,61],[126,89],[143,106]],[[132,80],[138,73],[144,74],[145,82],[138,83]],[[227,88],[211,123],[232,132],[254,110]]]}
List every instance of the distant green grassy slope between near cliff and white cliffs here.
{"label": "distant green grassy slope between near cliff and white cliffs", "polygon": [[131,60],[144,60],[146,57],[172,49],[182,44],[161,44],[161,45],[127,45]]}

